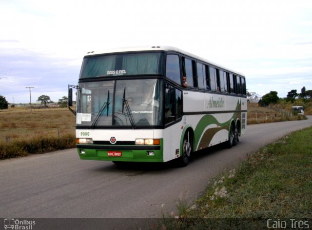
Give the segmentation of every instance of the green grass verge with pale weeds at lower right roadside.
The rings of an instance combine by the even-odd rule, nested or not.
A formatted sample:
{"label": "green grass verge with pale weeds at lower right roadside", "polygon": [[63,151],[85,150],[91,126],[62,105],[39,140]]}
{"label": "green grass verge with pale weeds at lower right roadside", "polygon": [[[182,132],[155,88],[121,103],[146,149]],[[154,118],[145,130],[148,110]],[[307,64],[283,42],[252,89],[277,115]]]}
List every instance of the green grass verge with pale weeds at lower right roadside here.
{"label": "green grass verge with pale weeds at lower right roadside", "polygon": [[211,181],[191,208],[178,207],[163,227],[215,229],[220,224],[215,220],[223,228],[233,218],[253,218],[249,224],[259,218],[312,218],[311,137],[312,127],[296,131],[246,157]]}

